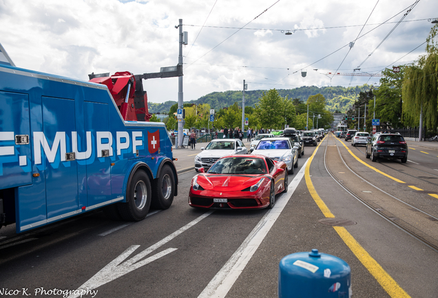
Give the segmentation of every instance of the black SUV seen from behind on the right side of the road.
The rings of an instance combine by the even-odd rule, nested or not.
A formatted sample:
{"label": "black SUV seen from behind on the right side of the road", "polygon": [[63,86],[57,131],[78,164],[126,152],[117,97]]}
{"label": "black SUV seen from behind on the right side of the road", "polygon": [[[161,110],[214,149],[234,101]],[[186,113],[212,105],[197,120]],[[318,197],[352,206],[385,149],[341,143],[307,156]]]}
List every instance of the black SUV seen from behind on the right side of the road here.
{"label": "black SUV seen from behind on the right side of the road", "polygon": [[377,134],[366,144],[366,158],[371,161],[384,157],[388,159],[401,159],[402,163],[408,161],[408,145],[401,135]]}

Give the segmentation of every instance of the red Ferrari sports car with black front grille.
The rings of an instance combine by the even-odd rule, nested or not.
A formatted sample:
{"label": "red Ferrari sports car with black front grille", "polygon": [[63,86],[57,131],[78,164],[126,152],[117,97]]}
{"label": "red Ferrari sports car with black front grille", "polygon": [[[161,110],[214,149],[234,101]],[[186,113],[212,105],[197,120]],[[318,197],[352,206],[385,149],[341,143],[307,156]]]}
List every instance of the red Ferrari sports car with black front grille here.
{"label": "red Ferrari sports car with black front grille", "polygon": [[222,157],[207,172],[203,170],[191,181],[191,207],[273,208],[275,195],[287,191],[286,163],[262,155]]}

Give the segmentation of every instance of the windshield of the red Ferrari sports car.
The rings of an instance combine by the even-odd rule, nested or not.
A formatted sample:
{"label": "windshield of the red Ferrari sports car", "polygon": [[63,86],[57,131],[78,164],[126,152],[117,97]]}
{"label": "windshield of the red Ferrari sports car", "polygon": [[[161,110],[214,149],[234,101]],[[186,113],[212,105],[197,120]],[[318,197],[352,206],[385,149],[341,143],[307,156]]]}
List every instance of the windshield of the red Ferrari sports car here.
{"label": "windshield of the red Ferrari sports car", "polygon": [[227,157],[219,159],[207,173],[209,174],[266,174],[263,159],[255,157]]}

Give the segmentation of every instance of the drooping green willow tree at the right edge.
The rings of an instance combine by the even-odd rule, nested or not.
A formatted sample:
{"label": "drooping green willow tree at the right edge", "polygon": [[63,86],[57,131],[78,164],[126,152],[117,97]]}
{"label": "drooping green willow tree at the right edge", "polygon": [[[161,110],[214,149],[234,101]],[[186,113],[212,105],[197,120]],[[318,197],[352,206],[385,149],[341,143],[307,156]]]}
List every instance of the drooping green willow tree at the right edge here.
{"label": "drooping green willow tree at the right edge", "polygon": [[426,54],[421,56],[413,66],[405,70],[403,88],[403,121],[408,126],[419,126],[420,115],[423,115],[423,126],[431,130],[437,129],[438,119],[438,24],[430,29],[426,46]]}

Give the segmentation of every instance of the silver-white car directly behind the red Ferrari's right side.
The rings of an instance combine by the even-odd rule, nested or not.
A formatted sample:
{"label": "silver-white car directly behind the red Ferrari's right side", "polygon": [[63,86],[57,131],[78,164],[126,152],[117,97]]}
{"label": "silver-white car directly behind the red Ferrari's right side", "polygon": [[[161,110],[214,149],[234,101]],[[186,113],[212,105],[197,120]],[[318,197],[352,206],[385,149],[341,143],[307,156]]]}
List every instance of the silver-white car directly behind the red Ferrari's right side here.
{"label": "silver-white car directly behind the red Ferrari's right side", "polygon": [[262,139],[251,154],[264,155],[274,161],[284,161],[287,170],[293,174],[293,168],[298,168],[298,147],[292,145],[287,137]]}

